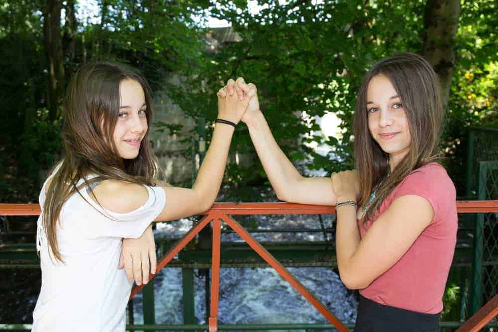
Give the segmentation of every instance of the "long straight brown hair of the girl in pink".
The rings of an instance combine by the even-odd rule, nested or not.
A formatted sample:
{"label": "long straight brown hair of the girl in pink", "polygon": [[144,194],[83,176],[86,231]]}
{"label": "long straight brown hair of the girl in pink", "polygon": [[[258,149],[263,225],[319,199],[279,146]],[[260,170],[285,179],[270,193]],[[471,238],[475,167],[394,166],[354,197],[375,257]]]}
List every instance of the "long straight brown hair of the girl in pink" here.
{"label": "long straight brown hair of the girl in pink", "polygon": [[[408,153],[388,177],[388,154],[372,138],[368,127],[367,87],[376,75],[386,76],[400,96],[411,137]],[[367,208],[364,223],[373,218],[384,199],[408,174],[440,160],[439,139],[445,111],[440,90],[432,66],[413,53],[381,60],[365,74],[358,92],[353,124],[355,166],[361,179],[359,206],[367,204],[373,188],[384,180]]]}

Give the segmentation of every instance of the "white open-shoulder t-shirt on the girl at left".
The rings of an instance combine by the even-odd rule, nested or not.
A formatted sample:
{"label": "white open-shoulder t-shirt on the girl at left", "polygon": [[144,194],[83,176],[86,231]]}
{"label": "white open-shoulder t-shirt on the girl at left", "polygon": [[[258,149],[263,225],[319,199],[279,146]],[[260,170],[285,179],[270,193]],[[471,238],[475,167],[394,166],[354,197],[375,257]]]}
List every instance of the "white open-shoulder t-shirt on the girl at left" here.
{"label": "white open-shoulder t-shirt on the girl at left", "polygon": [[78,193],[73,194],[62,207],[57,225],[57,241],[64,261],[61,263],[55,261],[51,252],[49,255],[41,219],[47,181],[39,198],[42,212],[37,249],[42,277],[32,331],[124,332],[132,282],[124,269],[118,269],[122,238],[143,234],[164,208],[164,190],[146,186],[147,202],[125,214],[103,209],[85,188],[80,192],[91,205]]}

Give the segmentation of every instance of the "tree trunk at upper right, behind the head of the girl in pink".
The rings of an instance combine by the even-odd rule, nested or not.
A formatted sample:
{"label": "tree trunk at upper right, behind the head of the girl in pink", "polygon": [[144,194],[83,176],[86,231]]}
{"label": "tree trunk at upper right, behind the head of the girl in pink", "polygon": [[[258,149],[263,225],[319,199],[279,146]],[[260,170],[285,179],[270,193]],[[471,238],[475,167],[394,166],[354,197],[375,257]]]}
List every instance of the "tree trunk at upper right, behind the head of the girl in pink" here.
{"label": "tree trunk at upper right, behind the head of the girl in pink", "polygon": [[439,76],[445,103],[448,103],[455,71],[455,36],[459,16],[460,0],[427,0],[422,55]]}

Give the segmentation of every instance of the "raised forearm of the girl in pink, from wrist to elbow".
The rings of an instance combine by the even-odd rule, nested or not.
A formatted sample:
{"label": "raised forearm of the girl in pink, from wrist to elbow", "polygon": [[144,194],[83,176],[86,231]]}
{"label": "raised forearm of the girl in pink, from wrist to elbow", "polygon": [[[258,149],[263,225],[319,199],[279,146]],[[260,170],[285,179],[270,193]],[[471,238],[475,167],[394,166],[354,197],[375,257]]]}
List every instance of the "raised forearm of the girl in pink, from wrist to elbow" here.
{"label": "raised forearm of the girl in pink, from wrist to elbow", "polygon": [[255,114],[247,125],[264,171],[277,196],[282,199],[292,190],[292,183],[302,176],[278,146],[262,113]]}

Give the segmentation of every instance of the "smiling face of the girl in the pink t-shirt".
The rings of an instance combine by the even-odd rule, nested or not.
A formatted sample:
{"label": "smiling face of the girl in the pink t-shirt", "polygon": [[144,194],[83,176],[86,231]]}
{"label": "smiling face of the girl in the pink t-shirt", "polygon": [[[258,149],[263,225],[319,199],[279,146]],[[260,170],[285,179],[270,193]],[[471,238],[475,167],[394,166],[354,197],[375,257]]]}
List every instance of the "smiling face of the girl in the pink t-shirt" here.
{"label": "smiling face of the girl in the pink t-shirt", "polygon": [[367,86],[369,131],[394,168],[410,149],[410,130],[401,98],[387,76],[374,76]]}

